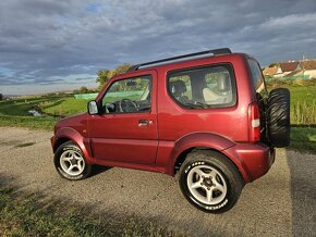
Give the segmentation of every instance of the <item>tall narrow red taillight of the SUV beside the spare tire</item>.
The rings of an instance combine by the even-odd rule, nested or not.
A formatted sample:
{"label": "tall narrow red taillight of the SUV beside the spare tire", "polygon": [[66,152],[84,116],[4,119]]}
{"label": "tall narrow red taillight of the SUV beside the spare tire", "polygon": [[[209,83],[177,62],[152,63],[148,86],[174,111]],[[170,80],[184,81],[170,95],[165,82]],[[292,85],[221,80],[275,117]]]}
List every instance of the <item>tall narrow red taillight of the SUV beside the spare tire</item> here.
{"label": "tall narrow red taillight of the SUV beside the spare tire", "polygon": [[250,104],[248,109],[250,141],[260,140],[260,112],[257,103]]}

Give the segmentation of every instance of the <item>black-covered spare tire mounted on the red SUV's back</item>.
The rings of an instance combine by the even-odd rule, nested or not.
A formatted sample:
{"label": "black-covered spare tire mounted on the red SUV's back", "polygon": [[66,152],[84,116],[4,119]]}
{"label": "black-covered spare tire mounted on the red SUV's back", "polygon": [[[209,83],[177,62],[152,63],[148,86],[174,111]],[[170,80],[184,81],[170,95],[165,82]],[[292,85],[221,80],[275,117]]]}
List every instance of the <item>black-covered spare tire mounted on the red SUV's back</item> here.
{"label": "black-covered spare tire mounted on the red SUV's back", "polygon": [[270,91],[267,110],[268,138],[272,147],[290,144],[290,91],[277,88]]}

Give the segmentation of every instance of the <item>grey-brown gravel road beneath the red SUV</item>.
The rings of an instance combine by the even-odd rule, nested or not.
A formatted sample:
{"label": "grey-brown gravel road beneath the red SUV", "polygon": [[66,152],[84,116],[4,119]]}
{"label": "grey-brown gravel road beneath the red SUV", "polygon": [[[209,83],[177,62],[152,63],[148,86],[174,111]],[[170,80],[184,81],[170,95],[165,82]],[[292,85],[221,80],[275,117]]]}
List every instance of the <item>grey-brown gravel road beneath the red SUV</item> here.
{"label": "grey-brown gravel road beneath the red SUV", "polygon": [[191,236],[316,236],[315,154],[279,149],[269,173],[246,185],[231,211],[212,215],[191,207],[165,174],[113,167],[81,182],[62,179],[52,164],[51,135],[0,127],[0,180]]}

